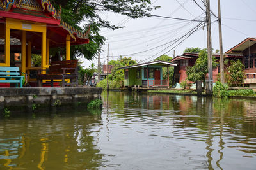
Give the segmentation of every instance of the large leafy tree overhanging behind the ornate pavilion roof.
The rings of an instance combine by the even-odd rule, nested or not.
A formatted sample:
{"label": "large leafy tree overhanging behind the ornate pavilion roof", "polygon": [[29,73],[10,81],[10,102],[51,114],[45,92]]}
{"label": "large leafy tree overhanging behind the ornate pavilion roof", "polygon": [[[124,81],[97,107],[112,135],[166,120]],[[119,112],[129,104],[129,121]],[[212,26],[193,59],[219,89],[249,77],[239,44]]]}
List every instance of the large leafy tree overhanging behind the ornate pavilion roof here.
{"label": "large leafy tree overhanging behind the ornate pavilion roof", "polygon": [[[90,43],[72,46],[72,57],[84,55],[88,60],[93,59],[100,52],[106,38],[99,34],[101,28],[119,29],[102,18],[100,11],[111,11],[131,18],[150,17],[150,11],[159,6],[150,6],[150,0],[52,0],[51,3],[59,10],[61,5],[62,20],[85,33],[89,29]],[[78,26],[78,25],[81,25]]]}

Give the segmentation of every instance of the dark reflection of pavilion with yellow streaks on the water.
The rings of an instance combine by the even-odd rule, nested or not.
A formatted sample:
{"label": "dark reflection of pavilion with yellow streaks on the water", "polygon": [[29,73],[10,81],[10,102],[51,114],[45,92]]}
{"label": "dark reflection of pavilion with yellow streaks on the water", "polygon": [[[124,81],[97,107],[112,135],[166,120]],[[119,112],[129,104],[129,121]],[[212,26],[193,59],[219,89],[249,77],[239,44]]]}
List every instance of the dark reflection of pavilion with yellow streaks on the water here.
{"label": "dark reflection of pavilion with yellow streaks on the water", "polygon": [[61,115],[48,113],[26,121],[1,122],[0,169],[99,167],[103,155],[95,145],[94,133],[101,123],[101,113],[76,114],[79,116],[61,111]]}

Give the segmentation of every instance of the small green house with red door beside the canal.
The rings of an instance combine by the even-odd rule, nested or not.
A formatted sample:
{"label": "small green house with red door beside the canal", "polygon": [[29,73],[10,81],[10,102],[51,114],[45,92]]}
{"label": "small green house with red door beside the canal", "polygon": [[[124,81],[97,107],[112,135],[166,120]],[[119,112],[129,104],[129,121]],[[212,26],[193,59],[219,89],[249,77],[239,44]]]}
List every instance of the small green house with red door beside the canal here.
{"label": "small green house with red door beside the canal", "polygon": [[163,80],[163,67],[167,67],[169,73],[170,66],[177,64],[157,60],[118,69],[124,69],[125,87],[169,87],[169,75],[167,80]]}

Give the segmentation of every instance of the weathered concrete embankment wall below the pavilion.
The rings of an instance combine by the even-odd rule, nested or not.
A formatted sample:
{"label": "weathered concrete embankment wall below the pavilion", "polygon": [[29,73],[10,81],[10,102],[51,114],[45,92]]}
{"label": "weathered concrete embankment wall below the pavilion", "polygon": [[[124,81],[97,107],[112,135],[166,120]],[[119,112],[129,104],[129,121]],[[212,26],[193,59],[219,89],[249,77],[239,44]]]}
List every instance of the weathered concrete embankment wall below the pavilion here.
{"label": "weathered concrete embankment wall below the pavilion", "polygon": [[0,88],[0,109],[6,107],[54,106],[54,104],[89,103],[100,99],[99,87]]}

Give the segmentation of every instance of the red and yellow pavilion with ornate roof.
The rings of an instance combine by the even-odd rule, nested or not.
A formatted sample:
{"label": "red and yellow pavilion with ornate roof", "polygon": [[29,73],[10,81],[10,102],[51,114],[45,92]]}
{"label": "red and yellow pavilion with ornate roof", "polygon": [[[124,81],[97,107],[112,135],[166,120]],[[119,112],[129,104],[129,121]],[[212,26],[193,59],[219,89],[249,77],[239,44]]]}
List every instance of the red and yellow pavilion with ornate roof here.
{"label": "red and yellow pavilion with ornate roof", "polygon": [[[66,49],[64,58],[70,60],[70,45],[89,43],[87,33],[63,22],[61,7],[57,11],[48,0],[0,1],[0,66],[16,66],[28,75],[38,73],[49,67],[51,48]],[[15,53],[21,54],[19,60]],[[41,56],[40,66],[31,66],[33,54]],[[36,75],[28,77],[31,86],[35,81]]]}

